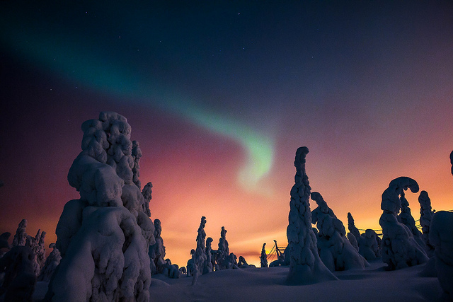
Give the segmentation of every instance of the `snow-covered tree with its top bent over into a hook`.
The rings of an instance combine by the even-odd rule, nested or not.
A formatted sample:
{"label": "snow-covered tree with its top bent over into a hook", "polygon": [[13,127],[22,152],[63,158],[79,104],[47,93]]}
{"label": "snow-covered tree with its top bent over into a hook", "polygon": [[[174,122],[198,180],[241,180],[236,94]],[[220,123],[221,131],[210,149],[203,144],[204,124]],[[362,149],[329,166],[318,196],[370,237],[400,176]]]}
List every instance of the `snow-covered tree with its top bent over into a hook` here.
{"label": "snow-covered tree with its top bent over into a hook", "polygon": [[401,269],[420,265],[428,261],[423,248],[413,238],[411,230],[398,222],[398,211],[401,208],[399,198],[403,190],[418,192],[418,183],[412,178],[399,177],[392,180],[382,193],[381,209],[383,211],[379,224],[382,226],[382,261],[387,269]]}

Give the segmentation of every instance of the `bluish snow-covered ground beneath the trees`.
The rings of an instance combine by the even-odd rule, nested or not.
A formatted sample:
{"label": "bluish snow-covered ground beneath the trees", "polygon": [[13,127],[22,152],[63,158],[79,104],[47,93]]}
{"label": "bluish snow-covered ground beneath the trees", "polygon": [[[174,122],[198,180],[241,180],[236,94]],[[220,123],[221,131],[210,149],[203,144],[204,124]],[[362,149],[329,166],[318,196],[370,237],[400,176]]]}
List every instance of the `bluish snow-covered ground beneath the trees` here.
{"label": "bluish snow-covered ground beneath the trees", "polygon": [[[338,281],[303,286],[284,284],[288,267],[224,269],[198,278],[152,277],[151,301],[448,301],[437,277],[420,277],[424,265],[387,272],[377,259],[365,270],[335,272]],[[33,295],[40,301],[47,290],[38,282]]]}

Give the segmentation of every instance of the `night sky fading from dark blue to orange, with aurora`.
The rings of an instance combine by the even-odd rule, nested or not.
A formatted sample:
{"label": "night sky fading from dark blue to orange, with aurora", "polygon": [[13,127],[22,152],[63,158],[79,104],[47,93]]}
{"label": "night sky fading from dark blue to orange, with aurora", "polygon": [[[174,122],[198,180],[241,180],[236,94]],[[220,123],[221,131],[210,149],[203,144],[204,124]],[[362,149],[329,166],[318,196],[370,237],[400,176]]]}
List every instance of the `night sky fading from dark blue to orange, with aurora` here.
{"label": "night sky fading from dark blue to orange, with aurora", "polygon": [[0,2],[0,233],[25,218],[55,242],[81,123],[101,111],[132,126],[178,265],[201,216],[249,263],[286,245],[299,146],[346,228],[348,211],[379,228],[402,175],[453,209],[452,1],[101,2]]}

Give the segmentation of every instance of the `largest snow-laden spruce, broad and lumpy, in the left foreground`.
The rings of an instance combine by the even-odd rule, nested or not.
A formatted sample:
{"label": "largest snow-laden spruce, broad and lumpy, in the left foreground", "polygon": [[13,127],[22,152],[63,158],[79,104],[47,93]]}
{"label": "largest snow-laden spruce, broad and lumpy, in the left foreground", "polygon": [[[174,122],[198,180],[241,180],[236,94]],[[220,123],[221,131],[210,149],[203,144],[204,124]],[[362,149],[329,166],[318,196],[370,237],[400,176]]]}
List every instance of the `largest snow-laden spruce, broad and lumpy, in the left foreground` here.
{"label": "largest snow-laden spruce, broad and lumpy, in the left foreground", "polygon": [[149,301],[154,224],[137,185],[139,146],[115,112],[101,112],[81,129],[82,151],[68,173],[80,199],[65,204],[57,224],[62,260],[46,299]]}

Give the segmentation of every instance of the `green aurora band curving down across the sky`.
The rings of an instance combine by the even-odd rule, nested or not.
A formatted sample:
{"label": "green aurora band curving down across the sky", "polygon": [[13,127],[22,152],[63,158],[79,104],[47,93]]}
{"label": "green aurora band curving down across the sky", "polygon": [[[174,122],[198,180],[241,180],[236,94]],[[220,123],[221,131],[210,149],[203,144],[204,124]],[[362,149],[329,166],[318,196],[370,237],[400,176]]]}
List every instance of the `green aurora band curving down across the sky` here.
{"label": "green aurora band curving down across the sky", "polygon": [[260,188],[258,182],[269,173],[273,165],[274,144],[268,135],[261,134],[238,120],[206,110],[190,98],[178,95],[173,89],[169,91],[168,88],[161,88],[163,85],[139,76],[129,66],[119,66],[119,59],[109,58],[108,50],[95,52],[88,50],[88,46],[81,47],[83,43],[77,43],[75,39],[69,40],[63,35],[45,35],[45,32],[34,30],[33,26],[24,30],[16,22],[0,21],[1,23],[3,28],[8,28],[0,34],[1,40],[13,55],[27,61],[31,59],[45,71],[79,81],[101,93],[180,115],[214,134],[239,142],[248,157],[246,165],[239,170],[239,184],[245,190],[266,194],[267,191]]}

